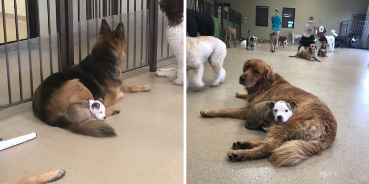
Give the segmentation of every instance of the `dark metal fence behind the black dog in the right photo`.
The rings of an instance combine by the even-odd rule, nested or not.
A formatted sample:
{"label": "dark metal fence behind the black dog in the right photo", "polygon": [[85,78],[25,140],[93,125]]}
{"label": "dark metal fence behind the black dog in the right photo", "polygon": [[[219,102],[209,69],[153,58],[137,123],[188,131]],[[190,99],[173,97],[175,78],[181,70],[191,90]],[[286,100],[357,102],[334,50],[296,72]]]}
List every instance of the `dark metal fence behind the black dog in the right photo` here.
{"label": "dark metal fence behind the black dog in the right photo", "polygon": [[236,39],[241,38],[241,14],[216,0],[187,0],[187,8],[197,12],[209,13],[215,23],[214,37],[223,40],[226,26],[237,29]]}

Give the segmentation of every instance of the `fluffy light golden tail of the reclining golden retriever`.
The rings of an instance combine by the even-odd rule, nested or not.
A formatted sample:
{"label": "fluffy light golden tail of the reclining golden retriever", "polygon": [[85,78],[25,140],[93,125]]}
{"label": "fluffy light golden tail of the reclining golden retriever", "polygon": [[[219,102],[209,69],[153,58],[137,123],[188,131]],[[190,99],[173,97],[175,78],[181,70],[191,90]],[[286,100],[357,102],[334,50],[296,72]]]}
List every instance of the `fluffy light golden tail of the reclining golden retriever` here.
{"label": "fluffy light golden tail of the reclining golden retriever", "polygon": [[295,165],[315,154],[320,154],[318,141],[290,140],[275,149],[269,160],[277,166]]}

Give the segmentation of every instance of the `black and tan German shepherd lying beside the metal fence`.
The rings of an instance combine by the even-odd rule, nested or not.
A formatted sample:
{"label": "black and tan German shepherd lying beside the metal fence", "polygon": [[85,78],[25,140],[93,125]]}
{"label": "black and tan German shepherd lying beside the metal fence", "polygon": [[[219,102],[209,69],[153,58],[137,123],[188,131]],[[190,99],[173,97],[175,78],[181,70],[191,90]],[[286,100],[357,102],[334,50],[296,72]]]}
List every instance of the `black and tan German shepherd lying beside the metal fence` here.
{"label": "black and tan German shepherd lying beside the metal fence", "polygon": [[[91,120],[72,123],[64,116],[64,110],[73,102],[102,98],[105,107],[123,99],[123,92],[150,91],[148,85],[122,84],[121,65],[125,59],[125,35],[123,23],[112,31],[102,20],[97,42],[79,65],[46,78],[32,97],[34,115],[46,124],[73,133],[95,137],[117,136],[114,129],[101,121]],[[106,116],[118,114],[119,108],[105,111]]]}

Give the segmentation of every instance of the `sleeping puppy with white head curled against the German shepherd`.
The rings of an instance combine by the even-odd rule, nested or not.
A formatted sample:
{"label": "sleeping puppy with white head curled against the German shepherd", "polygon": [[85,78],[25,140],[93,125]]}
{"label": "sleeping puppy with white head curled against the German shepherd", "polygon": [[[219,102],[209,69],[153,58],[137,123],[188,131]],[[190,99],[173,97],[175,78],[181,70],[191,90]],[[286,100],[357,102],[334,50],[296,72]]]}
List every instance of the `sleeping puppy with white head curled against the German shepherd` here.
{"label": "sleeping puppy with white head curled against the German shepherd", "polygon": [[64,117],[72,123],[85,122],[89,120],[103,121],[106,118],[105,106],[102,99],[84,100],[69,104],[65,111]]}

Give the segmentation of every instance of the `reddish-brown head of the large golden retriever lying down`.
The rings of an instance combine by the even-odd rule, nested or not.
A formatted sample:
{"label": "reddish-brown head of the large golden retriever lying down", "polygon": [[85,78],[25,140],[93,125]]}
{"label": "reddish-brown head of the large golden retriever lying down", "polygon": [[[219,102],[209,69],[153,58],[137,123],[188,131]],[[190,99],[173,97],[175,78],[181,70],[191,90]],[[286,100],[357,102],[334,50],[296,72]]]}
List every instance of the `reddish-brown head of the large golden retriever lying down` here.
{"label": "reddish-brown head of the large golden retriever lying down", "polygon": [[245,62],[244,73],[239,82],[247,90],[263,86],[267,88],[274,81],[273,69],[260,59],[250,59]]}

